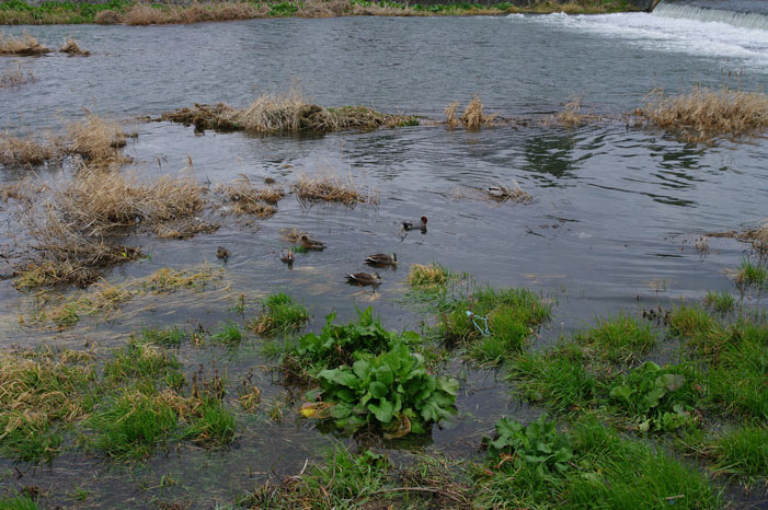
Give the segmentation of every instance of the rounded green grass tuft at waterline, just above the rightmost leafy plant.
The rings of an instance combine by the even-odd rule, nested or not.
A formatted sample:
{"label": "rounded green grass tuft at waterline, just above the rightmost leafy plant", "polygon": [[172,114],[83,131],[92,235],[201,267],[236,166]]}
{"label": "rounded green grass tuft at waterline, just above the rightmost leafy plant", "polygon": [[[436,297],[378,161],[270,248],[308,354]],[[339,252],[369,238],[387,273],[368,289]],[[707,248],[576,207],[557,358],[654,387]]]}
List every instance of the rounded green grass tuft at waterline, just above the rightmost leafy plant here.
{"label": "rounded green grass tuft at waterline, just above the rightmost leafy plant", "polygon": [[595,327],[577,334],[574,340],[597,359],[629,363],[651,350],[657,338],[650,324],[621,313],[598,320]]}

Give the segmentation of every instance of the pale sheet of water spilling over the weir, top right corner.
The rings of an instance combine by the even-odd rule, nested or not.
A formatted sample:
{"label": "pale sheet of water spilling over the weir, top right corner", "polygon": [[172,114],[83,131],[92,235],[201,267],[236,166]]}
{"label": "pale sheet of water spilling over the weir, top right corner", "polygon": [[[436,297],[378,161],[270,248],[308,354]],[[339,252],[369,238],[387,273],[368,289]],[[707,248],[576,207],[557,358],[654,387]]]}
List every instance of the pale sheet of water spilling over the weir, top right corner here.
{"label": "pale sheet of water spilling over the weir, top right corner", "polygon": [[763,0],[662,0],[653,15],[768,31],[768,2]]}

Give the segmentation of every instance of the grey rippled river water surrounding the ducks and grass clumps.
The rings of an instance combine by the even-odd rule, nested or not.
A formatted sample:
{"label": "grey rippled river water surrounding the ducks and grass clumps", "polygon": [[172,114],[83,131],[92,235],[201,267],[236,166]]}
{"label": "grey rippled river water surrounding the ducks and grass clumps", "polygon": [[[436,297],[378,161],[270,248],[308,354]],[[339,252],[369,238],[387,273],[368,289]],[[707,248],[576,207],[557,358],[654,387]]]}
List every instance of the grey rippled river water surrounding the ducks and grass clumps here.
{"label": "grey rippled river water surrounding the ducks and grass clumps", "polygon": [[[252,313],[256,298],[276,290],[287,290],[312,309],[311,329],[332,310],[341,321],[367,305],[390,328],[419,329],[422,314],[401,303],[408,268],[435,260],[472,274],[481,285],[525,286],[552,300],[554,318],[535,341],[539,348],[597,315],[700,299],[708,290],[737,294],[727,271],[747,247],[712,239],[710,253],[702,255],[694,243],[701,234],[754,224],[767,215],[765,139],[689,144],[661,131],[628,129],[620,118],[654,88],[676,92],[700,83],[759,90],[768,77],[765,31],[640,13],[254,20],[7,32],[22,30],[49,46],[76,37],[94,55],[24,59],[37,81],[0,90],[0,123],[12,132],[58,129],[79,118],[83,107],[130,120],[195,102],[244,106],[261,91],[287,89],[291,80],[326,106],[363,103],[439,119],[451,101],[466,103],[479,94],[488,112],[540,117],[578,95],[614,120],[577,129],[532,123],[468,132],[424,125],[320,137],[197,135],[180,125],[136,123],[139,137],[126,153],[141,175],[176,172],[188,155],[202,181],[230,182],[245,174],[255,182],[275,178],[287,188],[301,171],[331,167],[369,187],[379,204],[302,208],[289,195],[277,215],[250,225],[217,217],[223,224],[214,234],[186,241],[129,240],[151,259],[118,267],[107,279],[216,260],[218,245],[227,246],[232,257],[225,265],[225,281],[213,289],[131,302],[107,324],[89,318],[61,333],[20,327],[28,300],[1,281],[0,335],[5,346],[46,341],[79,347],[89,341],[106,353],[147,324],[199,321],[215,328],[226,318],[238,318],[228,309],[239,293],[249,297]],[[0,59],[0,72],[12,61]],[[55,178],[61,171],[39,172]],[[0,169],[0,181],[16,178],[18,171]],[[482,190],[513,181],[534,196],[531,204],[498,204]],[[429,218],[427,233],[400,230],[402,219],[422,215]],[[278,232],[286,227],[312,233],[329,248],[298,255],[288,270],[277,259],[286,245]],[[347,286],[343,275],[363,269],[364,256],[377,252],[396,252],[399,269],[382,271],[385,283],[376,293]],[[759,295],[745,299],[750,306],[763,306]],[[232,385],[249,368],[268,363],[257,347],[231,358],[216,348],[185,346],[180,357],[190,367],[211,357],[228,363]],[[463,418],[435,429],[431,444],[409,448],[471,455],[498,416],[525,420],[536,413],[514,402],[492,372],[461,366],[451,372],[465,382],[459,401]],[[276,398],[280,389],[272,376],[263,368],[256,373],[266,399]],[[93,495],[83,507],[188,498],[207,508],[232,501],[271,474],[298,472],[305,459],[331,441],[308,425],[296,425],[293,417],[283,424],[252,418],[240,425],[234,448],[225,452],[184,445],[181,454],[158,455],[150,465],[134,467],[67,454],[21,479],[9,472],[0,484],[51,487],[51,500],[65,502],[72,487],[84,486]],[[11,465],[0,461],[2,470]],[[158,487],[169,474],[179,483]]]}

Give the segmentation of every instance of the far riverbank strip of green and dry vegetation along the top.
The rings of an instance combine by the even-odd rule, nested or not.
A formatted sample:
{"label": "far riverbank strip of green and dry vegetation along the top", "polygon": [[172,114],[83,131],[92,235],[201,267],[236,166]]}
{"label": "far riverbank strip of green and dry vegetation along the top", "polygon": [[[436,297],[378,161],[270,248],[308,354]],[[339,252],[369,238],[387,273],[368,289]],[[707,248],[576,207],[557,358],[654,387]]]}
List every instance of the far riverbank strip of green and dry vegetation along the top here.
{"label": "far riverbank strip of green and dry vegetation along the top", "polygon": [[635,10],[628,0],[538,0],[531,5],[513,2],[483,5],[470,2],[423,5],[366,0],[288,0],[282,2],[222,1],[186,5],[140,3],[113,0],[108,3],[43,2],[32,5],[23,0],[0,3],[0,24],[125,24],[162,25],[262,18],[335,18],[354,15],[431,16],[502,15],[512,13],[597,14]]}

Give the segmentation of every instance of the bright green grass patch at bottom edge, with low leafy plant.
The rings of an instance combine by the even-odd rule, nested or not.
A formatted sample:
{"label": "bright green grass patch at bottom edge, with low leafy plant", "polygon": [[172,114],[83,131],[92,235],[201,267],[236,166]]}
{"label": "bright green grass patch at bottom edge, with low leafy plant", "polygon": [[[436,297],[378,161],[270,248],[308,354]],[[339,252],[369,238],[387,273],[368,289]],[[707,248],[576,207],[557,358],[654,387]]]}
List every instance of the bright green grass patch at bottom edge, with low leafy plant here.
{"label": "bright green grass patch at bottom edge, with low leafy plant", "polygon": [[[537,424],[526,428],[518,424],[513,430],[515,445],[502,450],[502,455],[490,455],[485,468],[479,470],[474,508],[619,509],[672,503],[694,510],[722,505],[704,475],[601,424],[584,420],[568,436],[557,432],[551,422]],[[532,437],[541,441],[534,442]],[[557,460],[566,457],[558,468]]]}

